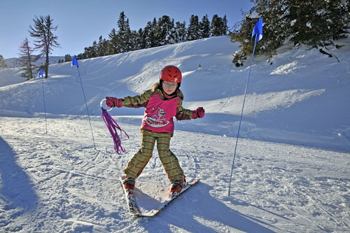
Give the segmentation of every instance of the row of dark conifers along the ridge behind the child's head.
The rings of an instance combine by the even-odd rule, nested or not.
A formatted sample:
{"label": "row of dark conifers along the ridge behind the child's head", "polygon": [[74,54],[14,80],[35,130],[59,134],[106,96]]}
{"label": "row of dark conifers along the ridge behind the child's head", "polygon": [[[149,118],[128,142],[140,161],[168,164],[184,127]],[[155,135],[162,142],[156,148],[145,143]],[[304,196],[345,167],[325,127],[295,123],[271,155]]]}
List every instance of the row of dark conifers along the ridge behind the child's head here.
{"label": "row of dark conifers along the ridge behind the child's head", "polygon": [[[225,35],[228,30],[226,15],[223,19],[218,17],[218,20],[221,22],[218,25],[218,35]],[[144,29],[135,31],[130,29],[129,19],[122,12],[118,20],[118,29],[118,31],[111,30],[109,40],[104,40],[100,36],[97,45],[85,48],[83,56],[87,58],[92,57],[93,54],[96,56],[113,55],[211,36],[211,24],[207,15],[202,18],[201,22],[198,21],[197,15],[192,15],[188,28],[186,28],[185,21],[174,23],[174,19],[163,15],[158,20],[154,17],[153,21],[147,22]],[[94,49],[95,47],[97,50]]]}

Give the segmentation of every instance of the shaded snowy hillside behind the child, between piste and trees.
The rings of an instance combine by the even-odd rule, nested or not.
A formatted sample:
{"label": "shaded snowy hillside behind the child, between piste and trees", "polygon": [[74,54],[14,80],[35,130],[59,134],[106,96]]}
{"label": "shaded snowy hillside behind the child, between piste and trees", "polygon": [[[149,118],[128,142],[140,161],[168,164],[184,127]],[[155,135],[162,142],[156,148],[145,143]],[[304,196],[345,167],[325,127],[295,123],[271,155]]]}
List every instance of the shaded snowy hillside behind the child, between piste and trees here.
{"label": "shaded snowy hillside behind the child, between piste and trees", "polygon": [[[349,152],[350,45],[348,40],[340,43],[345,45],[341,50],[331,51],[340,62],[318,50],[290,50],[288,45],[269,62],[267,57],[256,56],[241,136]],[[248,66],[236,68],[231,62],[237,49],[228,36],[222,36],[81,60],[80,76],[90,114],[101,114],[99,102],[105,96],[140,94],[158,80],[163,66],[174,64],[183,72],[185,106],[206,108],[201,132],[236,136],[248,78]],[[76,66],[54,64],[49,72],[44,82],[46,111],[85,115]],[[41,80],[6,86],[18,76],[17,69],[0,70],[0,114],[43,113]],[[121,108],[115,113],[142,115],[142,111]],[[198,127],[181,122],[177,128],[197,132]]]}

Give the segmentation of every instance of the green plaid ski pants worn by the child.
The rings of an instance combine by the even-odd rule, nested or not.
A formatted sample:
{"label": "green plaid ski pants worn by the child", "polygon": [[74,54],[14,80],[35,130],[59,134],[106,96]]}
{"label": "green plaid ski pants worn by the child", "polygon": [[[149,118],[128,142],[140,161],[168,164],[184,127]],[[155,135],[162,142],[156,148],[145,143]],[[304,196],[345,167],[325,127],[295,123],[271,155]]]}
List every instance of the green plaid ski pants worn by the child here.
{"label": "green plaid ski pants worn by the child", "polygon": [[183,170],[180,167],[179,160],[169,149],[171,134],[157,133],[148,130],[141,130],[142,143],[141,149],[132,157],[127,167],[124,169],[125,174],[131,178],[137,178],[153,154],[155,141],[157,141],[158,155],[162,162],[165,172],[167,172],[170,181],[177,181],[183,176]]}

